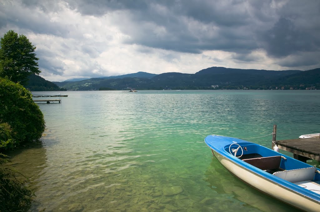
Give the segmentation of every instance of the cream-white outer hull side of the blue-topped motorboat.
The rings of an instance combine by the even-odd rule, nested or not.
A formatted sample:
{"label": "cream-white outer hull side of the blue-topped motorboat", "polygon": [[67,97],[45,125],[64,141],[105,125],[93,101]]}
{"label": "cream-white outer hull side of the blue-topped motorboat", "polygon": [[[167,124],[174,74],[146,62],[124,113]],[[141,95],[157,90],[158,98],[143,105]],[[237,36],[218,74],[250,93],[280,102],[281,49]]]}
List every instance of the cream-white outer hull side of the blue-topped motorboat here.
{"label": "cream-white outer hull side of the blue-topped motorboat", "polygon": [[295,192],[281,184],[262,177],[258,173],[250,171],[235,163],[234,161],[224,157],[218,152],[212,150],[214,156],[219,162],[226,167],[231,173],[236,175],[242,181],[248,183],[252,187],[264,192],[278,200],[290,204],[296,208],[305,211],[319,211],[319,202],[306,197],[305,195]]}

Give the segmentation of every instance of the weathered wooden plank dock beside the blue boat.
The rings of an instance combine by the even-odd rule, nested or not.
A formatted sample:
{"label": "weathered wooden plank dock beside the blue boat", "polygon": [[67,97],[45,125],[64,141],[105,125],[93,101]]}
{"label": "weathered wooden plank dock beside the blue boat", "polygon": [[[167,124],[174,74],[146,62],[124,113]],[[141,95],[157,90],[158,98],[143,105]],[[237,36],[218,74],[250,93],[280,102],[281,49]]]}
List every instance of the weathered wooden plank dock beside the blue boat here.
{"label": "weathered wooden plank dock beside the blue boat", "polygon": [[308,159],[320,161],[320,138],[297,138],[276,141],[279,149],[292,152],[293,157],[306,162]]}

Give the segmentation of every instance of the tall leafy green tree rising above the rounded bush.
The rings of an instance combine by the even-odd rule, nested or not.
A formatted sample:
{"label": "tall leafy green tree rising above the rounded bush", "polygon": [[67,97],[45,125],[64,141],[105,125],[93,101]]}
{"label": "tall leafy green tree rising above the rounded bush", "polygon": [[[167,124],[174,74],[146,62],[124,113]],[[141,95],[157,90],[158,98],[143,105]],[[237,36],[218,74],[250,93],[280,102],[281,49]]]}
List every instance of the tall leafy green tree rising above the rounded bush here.
{"label": "tall leafy green tree rising above the rounded bush", "polygon": [[36,47],[26,36],[9,30],[1,37],[0,46],[0,77],[8,76],[12,82],[24,85],[30,74],[41,72],[34,53]]}

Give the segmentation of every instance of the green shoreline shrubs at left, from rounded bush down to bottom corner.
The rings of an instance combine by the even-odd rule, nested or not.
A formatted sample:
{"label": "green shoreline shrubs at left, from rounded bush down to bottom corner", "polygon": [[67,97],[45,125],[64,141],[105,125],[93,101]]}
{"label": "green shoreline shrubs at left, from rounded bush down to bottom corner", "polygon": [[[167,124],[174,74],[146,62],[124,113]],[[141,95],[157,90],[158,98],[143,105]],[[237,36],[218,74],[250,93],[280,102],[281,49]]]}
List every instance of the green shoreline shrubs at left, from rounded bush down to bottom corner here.
{"label": "green shoreline shrubs at left, from rounded bush down to bottom corner", "polygon": [[7,164],[11,161],[4,153],[39,141],[45,128],[44,116],[31,92],[18,83],[0,77],[0,96],[0,208],[26,211],[35,196],[25,186],[30,176],[10,168]]}

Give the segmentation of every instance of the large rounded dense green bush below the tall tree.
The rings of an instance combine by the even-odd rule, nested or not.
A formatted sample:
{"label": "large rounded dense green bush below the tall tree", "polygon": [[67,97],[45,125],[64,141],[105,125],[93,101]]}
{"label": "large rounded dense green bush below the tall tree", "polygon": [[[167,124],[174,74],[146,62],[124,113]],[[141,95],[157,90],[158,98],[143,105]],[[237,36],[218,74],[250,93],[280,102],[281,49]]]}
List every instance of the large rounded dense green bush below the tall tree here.
{"label": "large rounded dense green bush below the tall tree", "polygon": [[15,144],[38,140],[44,132],[44,116],[23,86],[0,77],[0,120],[12,127]]}

